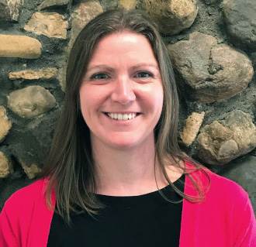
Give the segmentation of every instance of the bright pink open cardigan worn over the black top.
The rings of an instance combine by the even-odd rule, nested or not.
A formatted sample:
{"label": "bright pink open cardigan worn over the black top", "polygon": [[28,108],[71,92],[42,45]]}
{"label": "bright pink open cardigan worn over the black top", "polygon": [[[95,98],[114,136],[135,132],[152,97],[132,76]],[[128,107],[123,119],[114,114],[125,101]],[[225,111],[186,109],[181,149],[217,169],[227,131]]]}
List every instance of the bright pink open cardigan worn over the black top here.
{"label": "bright pink open cardigan worn over the black top", "polygon": [[[206,200],[183,201],[180,247],[255,247],[256,221],[247,193],[234,181],[206,171],[211,180]],[[206,185],[202,171],[192,176]],[[46,184],[47,180],[37,180],[5,202],[0,214],[1,247],[47,246],[54,212],[46,206]],[[195,195],[188,176],[185,194]]]}

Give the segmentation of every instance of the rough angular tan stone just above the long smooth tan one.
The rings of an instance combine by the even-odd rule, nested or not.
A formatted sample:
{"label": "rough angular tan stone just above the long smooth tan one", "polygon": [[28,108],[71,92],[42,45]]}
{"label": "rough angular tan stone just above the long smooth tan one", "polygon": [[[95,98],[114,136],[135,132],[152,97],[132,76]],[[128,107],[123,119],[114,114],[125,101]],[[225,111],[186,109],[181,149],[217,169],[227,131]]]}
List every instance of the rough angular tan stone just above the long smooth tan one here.
{"label": "rough angular tan stone just above the long smooth tan one", "polygon": [[67,39],[67,27],[64,15],[54,12],[35,12],[24,29],[49,38]]}

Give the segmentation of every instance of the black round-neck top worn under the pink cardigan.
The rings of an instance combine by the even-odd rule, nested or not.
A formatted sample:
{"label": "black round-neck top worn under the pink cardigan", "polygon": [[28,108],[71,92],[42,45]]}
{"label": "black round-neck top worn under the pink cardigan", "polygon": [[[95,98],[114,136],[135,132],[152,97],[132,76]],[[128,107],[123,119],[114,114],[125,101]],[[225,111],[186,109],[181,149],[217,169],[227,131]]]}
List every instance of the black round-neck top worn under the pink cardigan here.
{"label": "black round-neck top worn under the pink cardigan", "polygon": [[[184,181],[183,174],[174,184],[184,191]],[[182,199],[171,185],[161,192],[168,199]],[[86,212],[73,214],[73,226],[69,228],[59,214],[54,213],[47,247],[178,247],[182,202],[168,202],[157,190],[139,196],[96,196],[107,206],[96,219]]]}

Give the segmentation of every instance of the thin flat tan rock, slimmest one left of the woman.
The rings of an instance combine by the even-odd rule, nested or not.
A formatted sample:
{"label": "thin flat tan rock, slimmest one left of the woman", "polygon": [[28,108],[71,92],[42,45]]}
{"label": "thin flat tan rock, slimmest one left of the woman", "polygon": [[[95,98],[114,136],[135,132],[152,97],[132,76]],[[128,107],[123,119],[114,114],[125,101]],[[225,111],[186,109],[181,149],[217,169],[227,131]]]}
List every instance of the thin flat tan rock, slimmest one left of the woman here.
{"label": "thin flat tan rock, slimmest one left of the woman", "polygon": [[49,67],[40,70],[21,70],[9,73],[10,80],[26,79],[26,80],[49,80],[57,77],[57,68]]}

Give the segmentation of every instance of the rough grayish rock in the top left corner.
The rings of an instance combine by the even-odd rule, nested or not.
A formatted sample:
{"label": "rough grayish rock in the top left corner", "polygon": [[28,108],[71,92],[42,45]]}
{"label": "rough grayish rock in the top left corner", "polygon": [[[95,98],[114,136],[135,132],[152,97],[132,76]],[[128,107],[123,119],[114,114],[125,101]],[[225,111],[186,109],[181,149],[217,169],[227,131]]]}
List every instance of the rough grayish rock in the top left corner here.
{"label": "rough grayish rock in the top left corner", "polygon": [[0,20],[18,21],[23,0],[0,0]]}

